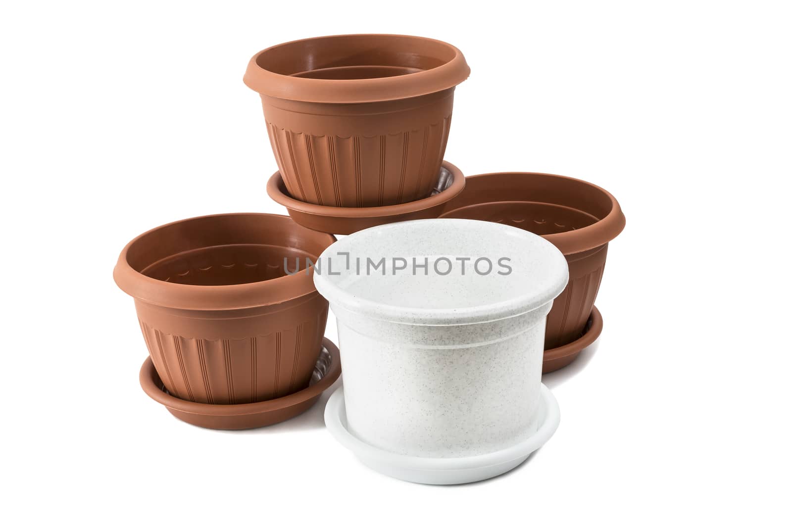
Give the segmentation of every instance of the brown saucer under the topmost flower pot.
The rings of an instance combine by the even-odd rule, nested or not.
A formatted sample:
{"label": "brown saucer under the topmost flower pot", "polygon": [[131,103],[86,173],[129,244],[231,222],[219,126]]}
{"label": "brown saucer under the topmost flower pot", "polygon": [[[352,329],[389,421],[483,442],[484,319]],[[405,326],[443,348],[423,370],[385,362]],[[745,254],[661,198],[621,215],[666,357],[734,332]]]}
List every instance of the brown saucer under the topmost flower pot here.
{"label": "brown saucer under the topmost flower pot", "polygon": [[367,227],[393,222],[437,218],[445,210],[446,203],[458,196],[464,188],[464,174],[447,161],[443,161],[431,196],[382,207],[329,207],[301,202],[289,196],[280,172],[272,174],[267,182],[267,194],[286,207],[292,220],[308,229],[330,234],[352,234]]}

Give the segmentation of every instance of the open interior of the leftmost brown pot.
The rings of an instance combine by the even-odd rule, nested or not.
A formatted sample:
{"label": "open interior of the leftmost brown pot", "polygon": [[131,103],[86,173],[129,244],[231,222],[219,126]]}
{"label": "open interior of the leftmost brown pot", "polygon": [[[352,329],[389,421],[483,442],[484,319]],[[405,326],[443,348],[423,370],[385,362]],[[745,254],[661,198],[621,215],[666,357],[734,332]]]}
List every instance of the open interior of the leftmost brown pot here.
{"label": "open interior of the leftmost brown pot", "polygon": [[332,235],[280,215],[216,215],[158,227],[130,245],[136,272],[169,283],[227,286],[277,279],[304,270]]}

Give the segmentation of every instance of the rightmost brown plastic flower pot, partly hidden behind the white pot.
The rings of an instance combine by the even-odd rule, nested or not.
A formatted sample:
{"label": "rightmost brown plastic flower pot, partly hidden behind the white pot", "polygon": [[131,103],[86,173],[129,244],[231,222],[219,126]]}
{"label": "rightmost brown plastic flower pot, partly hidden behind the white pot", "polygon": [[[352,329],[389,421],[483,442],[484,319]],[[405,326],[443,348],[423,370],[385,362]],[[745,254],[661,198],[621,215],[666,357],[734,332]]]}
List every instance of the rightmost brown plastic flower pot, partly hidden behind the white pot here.
{"label": "rightmost brown plastic flower pot, partly hidden behind the white pot", "polygon": [[[545,351],[587,341],[586,326],[593,317],[607,244],[625,224],[619,202],[610,192],[555,174],[479,174],[466,178],[465,190],[447,204],[440,218],[504,223],[542,235],[558,247],[569,264],[569,283],[547,316]],[[575,348],[565,348],[565,363],[554,361],[555,368],[571,363],[584,347]]]}

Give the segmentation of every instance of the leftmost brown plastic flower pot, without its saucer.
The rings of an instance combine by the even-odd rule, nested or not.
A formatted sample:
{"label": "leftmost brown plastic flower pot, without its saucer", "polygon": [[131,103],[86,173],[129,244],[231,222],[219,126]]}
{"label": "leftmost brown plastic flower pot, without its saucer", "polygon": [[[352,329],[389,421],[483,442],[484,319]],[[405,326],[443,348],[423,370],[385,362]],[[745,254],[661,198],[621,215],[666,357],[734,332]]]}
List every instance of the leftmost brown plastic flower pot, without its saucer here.
{"label": "leftmost brown plastic flower pot, without its saucer", "polygon": [[305,257],[315,261],[333,241],[287,216],[239,213],[169,223],[129,242],[113,278],[135,298],[168,392],[244,404],[305,389],[328,308]]}

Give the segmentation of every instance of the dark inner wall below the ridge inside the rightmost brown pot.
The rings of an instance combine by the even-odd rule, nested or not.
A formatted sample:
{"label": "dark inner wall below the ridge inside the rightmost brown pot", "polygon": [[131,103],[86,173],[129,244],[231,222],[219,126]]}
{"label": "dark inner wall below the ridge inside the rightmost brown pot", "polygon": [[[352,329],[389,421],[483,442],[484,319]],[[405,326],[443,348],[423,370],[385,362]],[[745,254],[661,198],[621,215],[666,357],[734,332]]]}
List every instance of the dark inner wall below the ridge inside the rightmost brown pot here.
{"label": "dark inner wall below the ridge inside the rightmost brown pot", "polygon": [[548,235],[591,226],[599,218],[573,207],[541,202],[490,202],[460,207],[444,218],[470,218],[515,226],[533,234]]}

